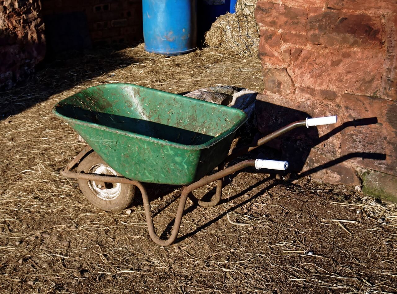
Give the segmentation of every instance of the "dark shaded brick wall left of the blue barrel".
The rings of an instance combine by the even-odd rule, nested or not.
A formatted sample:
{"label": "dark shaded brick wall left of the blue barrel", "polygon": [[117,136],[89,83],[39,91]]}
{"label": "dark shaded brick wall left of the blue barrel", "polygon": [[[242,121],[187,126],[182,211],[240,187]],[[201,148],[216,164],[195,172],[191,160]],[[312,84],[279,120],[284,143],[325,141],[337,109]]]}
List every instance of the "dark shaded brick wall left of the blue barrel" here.
{"label": "dark shaded brick wall left of the blue barrel", "polygon": [[94,45],[143,39],[141,0],[41,0],[41,2],[44,16],[84,12]]}

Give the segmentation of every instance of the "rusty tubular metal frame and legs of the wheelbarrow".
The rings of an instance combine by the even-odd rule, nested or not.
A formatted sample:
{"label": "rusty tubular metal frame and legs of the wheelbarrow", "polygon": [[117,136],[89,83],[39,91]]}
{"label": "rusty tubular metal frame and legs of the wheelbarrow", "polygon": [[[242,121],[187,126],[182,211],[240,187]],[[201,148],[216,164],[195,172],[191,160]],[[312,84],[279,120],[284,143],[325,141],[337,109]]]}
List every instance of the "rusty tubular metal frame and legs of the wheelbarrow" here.
{"label": "rusty tubular metal frame and legs of the wheelbarrow", "polygon": [[[150,207],[150,202],[148,199],[148,195],[146,193],[146,189],[144,185],[139,182],[139,181],[133,181],[124,177],[119,177],[119,176],[102,176],[98,174],[85,174],[85,173],[77,173],[77,172],[72,172],[71,169],[73,166],[78,164],[80,160],[87,154],[89,153],[92,148],[88,145],[85,147],[67,166],[60,171],[60,174],[66,178],[73,178],[73,179],[85,179],[88,181],[101,181],[105,183],[122,183],[122,184],[129,184],[129,185],[134,185],[139,188],[142,194],[142,199],[143,199],[143,205],[145,209],[145,217],[146,217],[146,223],[148,225],[148,231],[150,238],[153,240],[154,243],[160,245],[160,246],[168,246],[171,245],[173,242],[175,242],[175,239],[178,236],[179,233],[179,228],[181,226],[181,221],[182,221],[182,216],[183,216],[183,211],[185,210],[185,205],[187,201],[187,197],[189,197],[194,203],[197,203],[200,206],[206,206],[206,207],[212,207],[217,205],[220,200],[222,199],[222,185],[223,185],[223,178],[225,176],[228,176],[230,174],[233,174],[234,172],[237,172],[239,170],[242,170],[243,168],[247,168],[250,166],[255,166],[255,160],[244,160],[239,163],[233,164],[232,166],[229,166],[225,168],[225,165],[227,162],[230,162],[231,160],[267,143],[268,141],[292,130],[293,128],[297,128],[299,126],[305,126],[306,121],[305,120],[299,120],[297,122],[293,122],[291,124],[288,124],[287,126],[265,136],[256,141],[255,143],[252,143],[250,145],[247,145],[241,149],[238,149],[237,151],[232,151],[231,155],[227,156],[222,164],[218,166],[218,172],[206,176],[186,187],[183,188],[181,197],[179,199],[179,205],[178,205],[178,210],[177,213],[175,214],[175,223],[173,225],[172,231],[171,231],[171,236],[166,239],[160,239],[158,235],[156,234],[154,224],[153,224],[153,219],[152,219],[152,210]],[[197,199],[196,197],[193,196],[191,193],[195,189],[198,189],[204,185],[207,185],[213,181],[216,181],[216,195],[213,200],[211,201],[202,201],[200,199]]]}

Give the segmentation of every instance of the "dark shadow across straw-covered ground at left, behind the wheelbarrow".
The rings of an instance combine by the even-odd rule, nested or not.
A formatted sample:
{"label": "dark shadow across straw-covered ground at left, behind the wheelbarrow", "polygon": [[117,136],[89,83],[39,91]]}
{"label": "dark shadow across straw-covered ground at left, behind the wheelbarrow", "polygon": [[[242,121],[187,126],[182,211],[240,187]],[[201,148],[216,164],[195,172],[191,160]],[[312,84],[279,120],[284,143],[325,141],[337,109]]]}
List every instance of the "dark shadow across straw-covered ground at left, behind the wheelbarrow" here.
{"label": "dark shadow across straw-covered ground at left, behind the wheelbarrow", "polygon": [[[129,57],[118,52],[135,46],[137,43],[85,52],[65,52],[56,57],[48,57],[27,80],[17,83],[11,90],[0,92],[0,120],[87,80],[138,63],[139,57]],[[112,80],[112,76],[109,75],[106,80]]]}

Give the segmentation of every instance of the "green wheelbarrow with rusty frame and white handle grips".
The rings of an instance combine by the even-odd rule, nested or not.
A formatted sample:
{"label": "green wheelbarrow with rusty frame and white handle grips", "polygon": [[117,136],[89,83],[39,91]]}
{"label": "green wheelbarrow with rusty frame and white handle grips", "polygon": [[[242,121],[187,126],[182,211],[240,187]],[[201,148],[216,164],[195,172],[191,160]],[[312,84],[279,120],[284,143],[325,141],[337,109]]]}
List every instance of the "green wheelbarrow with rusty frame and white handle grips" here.
{"label": "green wheelbarrow with rusty frame and white handle grips", "polygon": [[[52,113],[68,122],[88,143],[60,174],[77,179],[85,197],[105,211],[129,207],[137,187],[149,235],[161,246],[177,238],[188,197],[201,206],[212,207],[222,198],[225,176],[247,167],[288,167],[285,161],[266,159],[244,160],[226,167],[228,162],[293,128],[337,120],[328,116],[293,122],[228,155],[235,132],[247,115],[224,105],[133,84],[105,84],[67,97]],[[216,167],[217,172],[206,176]],[[213,181],[213,200],[203,201],[191,193]],[[183,186],[172,233],[166,240],[155,232],[143,183]]]}

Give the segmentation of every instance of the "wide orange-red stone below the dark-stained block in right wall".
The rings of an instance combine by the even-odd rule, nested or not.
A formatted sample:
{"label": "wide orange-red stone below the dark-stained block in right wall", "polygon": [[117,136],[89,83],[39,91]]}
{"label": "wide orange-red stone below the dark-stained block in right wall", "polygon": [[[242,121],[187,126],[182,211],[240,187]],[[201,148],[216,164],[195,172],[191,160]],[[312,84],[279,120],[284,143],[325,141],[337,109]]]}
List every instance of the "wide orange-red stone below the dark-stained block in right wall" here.
{"label": "wide orange-red stone below the dark-stained block in right wall", "polygon": [[302,50],[291,76],[296,85],[372,95],[380,90],[384,56],[375,50]]}

